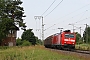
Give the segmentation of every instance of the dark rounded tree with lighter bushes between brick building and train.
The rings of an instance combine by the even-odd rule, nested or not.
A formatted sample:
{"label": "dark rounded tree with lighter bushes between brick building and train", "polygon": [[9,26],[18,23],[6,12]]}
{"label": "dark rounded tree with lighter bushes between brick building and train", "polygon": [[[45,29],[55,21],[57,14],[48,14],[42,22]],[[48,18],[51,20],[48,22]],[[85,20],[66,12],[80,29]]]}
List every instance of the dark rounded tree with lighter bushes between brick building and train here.
{"label": "dark rounded tree with lighter bushes between brick building and train", "polygon": [[21,35],[21,39],[18,38],[16,40],[17,46],[30,46],[30,45],[42,45],[43,41],[41,39],[38,39],[32,32],[32,29],[28,29],[23,32]]}

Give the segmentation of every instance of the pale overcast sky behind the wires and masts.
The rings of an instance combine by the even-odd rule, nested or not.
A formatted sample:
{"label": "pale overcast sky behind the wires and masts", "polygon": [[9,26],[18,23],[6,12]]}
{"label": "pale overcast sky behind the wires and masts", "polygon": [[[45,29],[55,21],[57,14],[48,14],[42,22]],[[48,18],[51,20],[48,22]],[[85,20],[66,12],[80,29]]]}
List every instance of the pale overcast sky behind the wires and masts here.
{"label": "pale overcast sky behind the wires and masts", "polygon": [[[35,19],[34,16],[42,15],[44,20],[44,38],[49,35],[59,33],[58,28],[70,29],[81,33],[85,29],[85,24],[90,26],[90,0],[22,0],[27,29],[32,28],[35,36],[41,38],[42,19]],[[39,30],[37,30],[39,29]],[[17,37],[21,37],[23,31],[18,31]]]}

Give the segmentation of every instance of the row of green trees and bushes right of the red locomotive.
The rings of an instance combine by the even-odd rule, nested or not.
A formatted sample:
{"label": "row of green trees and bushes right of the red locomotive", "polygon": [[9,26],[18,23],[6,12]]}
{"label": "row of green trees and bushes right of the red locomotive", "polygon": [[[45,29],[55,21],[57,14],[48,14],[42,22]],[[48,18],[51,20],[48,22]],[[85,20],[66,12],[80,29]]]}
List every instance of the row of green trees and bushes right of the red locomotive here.
{"label": "row of green trees and bushes right of the red locomotive", "polygon": [[86,27],[83,32],[83,36],[81,36],[78,32],[76,32],[76,43],[86,43],[90,44],[90,27]]}

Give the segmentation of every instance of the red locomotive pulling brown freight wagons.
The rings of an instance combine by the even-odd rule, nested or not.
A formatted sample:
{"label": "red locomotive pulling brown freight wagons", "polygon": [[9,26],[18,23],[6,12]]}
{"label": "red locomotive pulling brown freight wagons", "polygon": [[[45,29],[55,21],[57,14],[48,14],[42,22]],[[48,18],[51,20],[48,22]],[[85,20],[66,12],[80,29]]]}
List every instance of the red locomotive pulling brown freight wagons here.
{"label": "red locomotive pulling brown freight wagons", "polygon": [[65,30],[61,33],[53,34],[44,40],[44,46],[46,48],[56,49],[75,49],[76,35],[70,30]]}

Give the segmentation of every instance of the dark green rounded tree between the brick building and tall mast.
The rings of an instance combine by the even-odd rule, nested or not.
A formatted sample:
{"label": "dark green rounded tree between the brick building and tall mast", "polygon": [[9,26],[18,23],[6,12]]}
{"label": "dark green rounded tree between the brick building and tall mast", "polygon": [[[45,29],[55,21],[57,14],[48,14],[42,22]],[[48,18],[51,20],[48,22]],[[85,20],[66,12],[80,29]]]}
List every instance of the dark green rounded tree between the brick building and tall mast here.
{"label": "dark green rounded tree between the brick building and tall mast", "polygon": [[21,38],[22,38],[22,41],[27,40],[27,41],[31,42],[32,45],[36,44],[36,38],[34,36],[34,33],[32,32],[32,29],[28,29],[28,30],[24,31]]}

